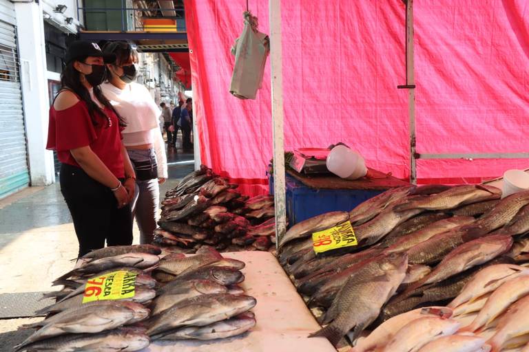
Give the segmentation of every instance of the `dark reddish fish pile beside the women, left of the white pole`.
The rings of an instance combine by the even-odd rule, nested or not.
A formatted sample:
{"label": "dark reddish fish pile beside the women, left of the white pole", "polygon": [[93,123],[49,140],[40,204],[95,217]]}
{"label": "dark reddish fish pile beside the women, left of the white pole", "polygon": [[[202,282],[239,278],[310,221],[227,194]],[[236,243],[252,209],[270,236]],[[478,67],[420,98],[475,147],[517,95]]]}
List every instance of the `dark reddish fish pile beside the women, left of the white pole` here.
{"label": "dark reddish fish pile beside the women, left of the white pole", "polygon": [[201,245],[217,250],[275,250],[273,197],[249,198],[238,184],[202,166],[165,194],[154,243],[193,253]]}

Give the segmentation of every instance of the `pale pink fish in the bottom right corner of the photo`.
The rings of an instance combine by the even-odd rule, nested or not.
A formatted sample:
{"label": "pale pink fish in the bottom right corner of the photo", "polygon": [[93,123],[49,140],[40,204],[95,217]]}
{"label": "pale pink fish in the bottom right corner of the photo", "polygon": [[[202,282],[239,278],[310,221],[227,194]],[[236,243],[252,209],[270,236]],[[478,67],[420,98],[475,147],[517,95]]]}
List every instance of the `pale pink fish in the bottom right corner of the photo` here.
{"label": "pale pink fish in the bottom right corner of the photo", "polygon": [[525,296],[513,304],[499,319],[495,334],[487,341],[487,344],[492,347],[490,351],[498,352],[519,347],[519,344],[510,344],[509,340],[529,333],[528,318],[529,296]]}

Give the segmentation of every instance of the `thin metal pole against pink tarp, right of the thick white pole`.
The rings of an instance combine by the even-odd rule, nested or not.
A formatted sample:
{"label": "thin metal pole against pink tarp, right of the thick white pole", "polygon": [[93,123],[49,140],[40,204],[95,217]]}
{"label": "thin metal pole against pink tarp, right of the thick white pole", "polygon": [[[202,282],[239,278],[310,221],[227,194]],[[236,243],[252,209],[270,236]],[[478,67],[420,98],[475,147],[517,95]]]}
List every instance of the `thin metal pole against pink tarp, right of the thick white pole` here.
{"label": "thin metal pole against pink tarp, right of the thick white pole", "polygon": [[408,85],[408,114],[410,118],[410,182],[417,184],[415,160],[415,70],[413,65],[413,0],[406,1],[406,85]]}

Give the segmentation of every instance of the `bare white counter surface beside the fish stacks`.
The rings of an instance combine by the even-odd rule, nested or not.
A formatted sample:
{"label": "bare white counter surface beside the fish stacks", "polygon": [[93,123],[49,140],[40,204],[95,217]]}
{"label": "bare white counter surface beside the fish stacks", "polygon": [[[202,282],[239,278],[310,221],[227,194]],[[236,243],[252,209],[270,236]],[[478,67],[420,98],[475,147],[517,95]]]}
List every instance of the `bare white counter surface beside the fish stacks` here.
{"label": "bare white counter surface beside the fish stacks", "polygon": [[212,341],[155,341],[143,352],[334,352],[325,338],[308,338],[320,326],[276,258],[269,252],[222,253],[246,263],[240,284],[257,299],[257,324],[235,338]]}

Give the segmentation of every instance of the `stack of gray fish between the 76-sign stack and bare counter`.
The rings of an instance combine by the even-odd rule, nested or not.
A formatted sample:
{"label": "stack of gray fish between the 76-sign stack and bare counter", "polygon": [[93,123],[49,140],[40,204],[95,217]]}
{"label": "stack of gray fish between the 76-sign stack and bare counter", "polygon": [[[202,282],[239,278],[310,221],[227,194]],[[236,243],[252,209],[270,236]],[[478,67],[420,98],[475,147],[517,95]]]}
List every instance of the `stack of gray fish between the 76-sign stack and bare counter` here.
{"label": "stack of gray fish between the 76-sign stack and bare counter", "polygon": [[152,340],[215,340],[245,333],[256,325],[256,299],[238,284],[245,263],[223,258],[203,246],[196,255],[165,256],[154,277],[156,290],[147,335]]}

